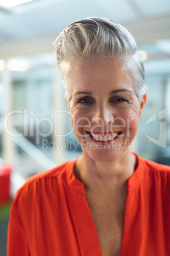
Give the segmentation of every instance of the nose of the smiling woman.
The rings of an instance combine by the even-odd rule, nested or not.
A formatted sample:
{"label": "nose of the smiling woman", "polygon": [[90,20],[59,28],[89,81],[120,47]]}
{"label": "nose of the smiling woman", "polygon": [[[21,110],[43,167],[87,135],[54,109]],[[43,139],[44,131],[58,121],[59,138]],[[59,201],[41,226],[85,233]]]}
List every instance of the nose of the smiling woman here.
{"label": "nose of the smiling woman", "polygon": [[94,124],[105,126],[106,124],[113,122],[113,120],[113,111],[110,110],[110,108],[107,108],[107,106],[100,106],[93,110],[92,122]]}

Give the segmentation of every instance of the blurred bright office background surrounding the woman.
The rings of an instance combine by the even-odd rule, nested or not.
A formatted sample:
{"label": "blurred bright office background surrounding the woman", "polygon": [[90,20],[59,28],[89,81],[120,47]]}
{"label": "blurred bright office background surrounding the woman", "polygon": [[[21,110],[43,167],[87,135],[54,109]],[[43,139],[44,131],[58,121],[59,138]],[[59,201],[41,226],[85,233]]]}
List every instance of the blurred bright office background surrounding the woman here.
{"label": "blurred bright office background surrounding the woman", "polygon": [[[11,197],[29,176],[81,154],[53,42],[67,25],[83,17],[107,17],[136,39],[148,97],[132,150],[170,165],[170,1],[22,2],[0,0],[0,178],[8,173],[8,164]],[[10,203],[1,202],[0,256],[6,255]]]}

